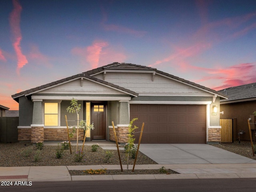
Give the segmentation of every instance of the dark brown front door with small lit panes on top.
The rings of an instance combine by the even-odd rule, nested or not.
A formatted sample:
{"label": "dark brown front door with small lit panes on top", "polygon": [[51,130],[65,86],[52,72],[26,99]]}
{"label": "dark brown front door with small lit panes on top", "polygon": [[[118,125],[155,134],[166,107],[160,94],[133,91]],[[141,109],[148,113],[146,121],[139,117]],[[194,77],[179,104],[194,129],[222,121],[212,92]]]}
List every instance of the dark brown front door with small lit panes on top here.
{"label": "dark brown front door with small lit panes on top", "polygon": [[91,139],[106,139],[106,104],[92,103],[92,122],[94,130]]}

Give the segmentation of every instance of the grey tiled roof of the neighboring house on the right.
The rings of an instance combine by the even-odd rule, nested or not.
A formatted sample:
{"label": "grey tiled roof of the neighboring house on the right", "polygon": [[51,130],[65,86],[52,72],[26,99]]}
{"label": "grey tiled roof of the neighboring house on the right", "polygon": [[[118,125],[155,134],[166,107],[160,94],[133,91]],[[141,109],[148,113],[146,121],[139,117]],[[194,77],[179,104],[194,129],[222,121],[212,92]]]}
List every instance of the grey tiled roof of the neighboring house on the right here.
{"label": "grey tiled roof of the neighboring house on the right", "polygon": [[256,100],[256,82],[226,88],[219,92],[228,96],[228,99],[220,100],[221,104]]}

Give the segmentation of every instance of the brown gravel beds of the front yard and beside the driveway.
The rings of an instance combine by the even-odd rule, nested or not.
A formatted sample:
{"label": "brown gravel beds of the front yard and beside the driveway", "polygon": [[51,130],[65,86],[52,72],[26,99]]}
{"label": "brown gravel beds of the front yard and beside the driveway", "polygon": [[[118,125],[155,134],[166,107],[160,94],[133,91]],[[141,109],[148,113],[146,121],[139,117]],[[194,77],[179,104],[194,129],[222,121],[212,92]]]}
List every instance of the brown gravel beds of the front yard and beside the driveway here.
{"label": "brown gravel beds of the front yard and beside the driveway", "polygon": [[[255,156],[252,155],[252,146],[250,142],[238,141],[234,143],[221,143],[213,144],[218,148],[240,154],[242,156],[256,160]],[[35,145],[31,143],[0,143],[0,166],[11,167],[11,166],[71,166],[71,165],[119,165],[119,158],[117,150],[103,150],[102,148],[97,148],[96,152],[92,152],[91,146],[84,146],[84,157],[82,157],[81,162],[76,162],[76,146],[72,147],[72,154],[70,150],[63,150],[62,158],[56,158],[56,151],[58,146],[43,146],[42,150],[39,152],[38,158],[36,153],[38,152]],[[80,149],[82,146],[79,146]],[[60,148],[60,146],[59,146]],[[121,161],[123,165],[127,164],[127,156],[124,150],[120,150]],[[108,158],[109,157],[109,158]],[[38,160],[38,161],[36,161]],[[36,161],[36,162],[35,162]],[[133,164],[134,159],[129,158],[129,164]],[[157,164],[148,156],[138,153],[136,164]],[[106,170],[106,172],[101,174],[175,174],[172,170]],[[86,175],[88,173],[83,170],[71,170],[71,175]]]}

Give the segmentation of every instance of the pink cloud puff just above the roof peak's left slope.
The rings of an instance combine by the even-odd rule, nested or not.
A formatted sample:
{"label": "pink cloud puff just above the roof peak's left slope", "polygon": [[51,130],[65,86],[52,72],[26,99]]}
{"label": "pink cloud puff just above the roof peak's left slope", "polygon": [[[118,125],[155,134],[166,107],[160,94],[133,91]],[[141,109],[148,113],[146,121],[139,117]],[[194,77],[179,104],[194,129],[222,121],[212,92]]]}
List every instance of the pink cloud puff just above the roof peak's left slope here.
{"label": "pink cloud puff just above the roof peak's left slope", "polygon": [[82,64],[89,63],[91,68],[97,68],[100,65],[113,62],[113,60],[122,62],[126,56],[120,50],[121,48],[118,51],[112,49],[108,42],[96,41],[88,47],[73,48],[71,52],[81,57]]}

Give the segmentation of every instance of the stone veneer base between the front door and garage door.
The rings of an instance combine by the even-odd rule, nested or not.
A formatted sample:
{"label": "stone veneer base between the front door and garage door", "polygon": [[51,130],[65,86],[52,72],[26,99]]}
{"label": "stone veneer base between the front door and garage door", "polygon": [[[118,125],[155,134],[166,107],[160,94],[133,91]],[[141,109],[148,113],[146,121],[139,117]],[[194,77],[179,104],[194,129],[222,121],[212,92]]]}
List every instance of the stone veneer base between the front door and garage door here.
{"label": "stone veneer base between the front door and garage door", "polygon": [[[128,142],[128,127],[118,127],[115,128],[116,137],[118,143],[127,143]],[[116,141],[113,128],[109,128],[109,140]]]}

